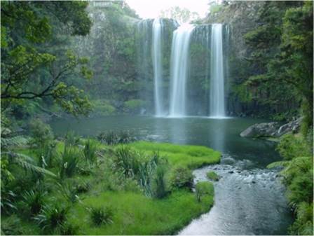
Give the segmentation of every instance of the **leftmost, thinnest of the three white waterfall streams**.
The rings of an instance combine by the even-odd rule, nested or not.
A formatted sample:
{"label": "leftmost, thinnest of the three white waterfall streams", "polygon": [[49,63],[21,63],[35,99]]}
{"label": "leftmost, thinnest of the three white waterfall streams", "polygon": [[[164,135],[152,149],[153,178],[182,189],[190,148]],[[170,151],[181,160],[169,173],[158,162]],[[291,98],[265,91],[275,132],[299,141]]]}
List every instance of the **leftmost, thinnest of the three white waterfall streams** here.
{"label": "leftmost, thinnest of the three white waterfall streams", "polygon": [[152,39],[152,61],[153,61],[153,98],[155,102],[155,115],[163,116],[165,113],[163,105],[163,66],[162,66],[162,30],[163,21],[153,20],[153,39]]}

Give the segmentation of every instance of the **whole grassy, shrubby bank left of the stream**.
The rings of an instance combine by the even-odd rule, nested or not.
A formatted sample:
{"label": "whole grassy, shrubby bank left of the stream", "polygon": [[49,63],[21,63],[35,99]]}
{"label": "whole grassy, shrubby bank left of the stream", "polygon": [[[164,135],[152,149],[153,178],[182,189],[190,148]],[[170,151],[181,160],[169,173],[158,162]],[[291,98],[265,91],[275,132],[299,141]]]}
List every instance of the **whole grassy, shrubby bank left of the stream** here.
{"label": "whole grassy, shrubby bank left of the stream", "polygon": [[29,134],[1,132],[1,234],[173,234],[212,207],[212,183],[191,190],[191,169],[220,160],[210,148],[125,133],[109,134],[112,145],[72,132],[56,140],[39,120]]}

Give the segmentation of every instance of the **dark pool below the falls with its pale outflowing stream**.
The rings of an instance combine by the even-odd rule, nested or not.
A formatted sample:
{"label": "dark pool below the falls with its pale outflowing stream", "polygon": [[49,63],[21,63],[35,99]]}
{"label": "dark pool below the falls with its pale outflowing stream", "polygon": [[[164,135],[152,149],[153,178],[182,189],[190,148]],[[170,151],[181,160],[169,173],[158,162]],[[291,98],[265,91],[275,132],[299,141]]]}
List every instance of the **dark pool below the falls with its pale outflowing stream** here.
{"label": "dark pool below the falls with its pale outflowing stream", "polygon": [[271,141],[240,137],[254,123],[252,118],[210,119],[205,117],[155,118],[149,116],[109,116],[80,120],[53,120],[55,134],[74,130],[95,136],[108,130],[130,130],[138,139],[194,144],[223,153],[221,165],[197,169],[195,181],[206,180],[214,169],[221,180],[215,183],[212,210],[181,230],[182,235],[286,235],[292,222],[285,188],[274,170],[266,165],[280,160]]}

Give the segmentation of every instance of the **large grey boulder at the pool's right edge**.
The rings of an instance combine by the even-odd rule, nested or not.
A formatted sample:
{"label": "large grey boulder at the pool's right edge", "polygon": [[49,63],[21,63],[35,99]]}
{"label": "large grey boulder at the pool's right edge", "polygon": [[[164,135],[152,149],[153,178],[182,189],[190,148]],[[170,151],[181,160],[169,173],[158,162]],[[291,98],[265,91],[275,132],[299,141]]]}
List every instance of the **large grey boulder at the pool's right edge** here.
{"label": "large grey boulder at the pool's right edge", "polygon": [[277,122],[254,124],[241,132],[240,136],[249,138],[273,137],[279,127]]}

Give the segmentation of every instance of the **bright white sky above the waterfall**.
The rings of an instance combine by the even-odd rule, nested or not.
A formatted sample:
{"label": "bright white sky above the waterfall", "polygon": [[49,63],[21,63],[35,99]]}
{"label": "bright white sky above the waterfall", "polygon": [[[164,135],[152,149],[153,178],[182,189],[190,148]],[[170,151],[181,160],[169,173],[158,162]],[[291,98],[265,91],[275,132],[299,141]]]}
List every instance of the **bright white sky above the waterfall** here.
{"label": "bright white sky above the waterfall", "polygon": [[204,18],[208,10],[208,0],[126,0],[140,18],[158,18],[162,10],[172,6],[188,8],[191,12],[196,11],[200,18]]}

